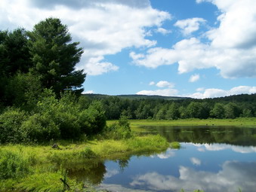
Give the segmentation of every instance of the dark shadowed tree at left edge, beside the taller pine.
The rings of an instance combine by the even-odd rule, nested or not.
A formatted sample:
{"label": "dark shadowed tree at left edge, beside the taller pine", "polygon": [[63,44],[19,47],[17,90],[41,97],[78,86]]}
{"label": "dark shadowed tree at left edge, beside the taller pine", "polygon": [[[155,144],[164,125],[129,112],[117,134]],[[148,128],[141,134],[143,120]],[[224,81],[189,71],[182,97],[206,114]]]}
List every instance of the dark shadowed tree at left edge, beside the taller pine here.
{"label": "dark shadowed tree at left edge, beside the taller pine", "polygon": [[11,101],[6,100],[10,78],[17,72],[29,72],[31,66],[25,29],[0,31],[0,102],[10,104]]}

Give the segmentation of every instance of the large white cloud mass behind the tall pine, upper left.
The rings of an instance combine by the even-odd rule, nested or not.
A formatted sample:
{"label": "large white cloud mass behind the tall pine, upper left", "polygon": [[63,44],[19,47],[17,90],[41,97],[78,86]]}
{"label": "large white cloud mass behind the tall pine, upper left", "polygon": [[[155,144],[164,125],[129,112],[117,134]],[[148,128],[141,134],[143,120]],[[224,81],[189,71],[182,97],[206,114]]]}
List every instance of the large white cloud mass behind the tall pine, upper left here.
{"label": "large white cloud mass behind the tall pine, upper left", "polygon": [[0,9],[5,29],[22,26],[31,30],[47,17],[60,18],[84,49],[77,67],[88,75],[117,70],[113,63],[103,61],[105,55],[126,47],[154,46],[156,41],[147,39],[149,28],[160,29],[165,20],[171,19],[167,12],[153,9],[149,0],[2,0]]}

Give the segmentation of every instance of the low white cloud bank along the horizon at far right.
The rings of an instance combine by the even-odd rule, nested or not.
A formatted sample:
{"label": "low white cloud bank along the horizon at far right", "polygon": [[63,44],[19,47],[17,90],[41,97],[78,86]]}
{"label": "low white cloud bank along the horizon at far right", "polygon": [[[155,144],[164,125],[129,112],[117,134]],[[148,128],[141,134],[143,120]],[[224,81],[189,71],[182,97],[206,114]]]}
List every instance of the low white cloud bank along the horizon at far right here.
{"label": "low white cloud bank along the horizon at far right", "polygon": [[211,89],[198,90],[198,91],[199,92],[196,92],[187,96],[192,98],[197,98],[197,99],[204,99],[204,98],[214,98],[214,97],[231,96],[231,95],[239,95],[239,94],[253,94],[253,93],[256,93],[256,87],[239,86],[239,87],[233,87],[230,90],[221,90],[221,89],[211,88]]}

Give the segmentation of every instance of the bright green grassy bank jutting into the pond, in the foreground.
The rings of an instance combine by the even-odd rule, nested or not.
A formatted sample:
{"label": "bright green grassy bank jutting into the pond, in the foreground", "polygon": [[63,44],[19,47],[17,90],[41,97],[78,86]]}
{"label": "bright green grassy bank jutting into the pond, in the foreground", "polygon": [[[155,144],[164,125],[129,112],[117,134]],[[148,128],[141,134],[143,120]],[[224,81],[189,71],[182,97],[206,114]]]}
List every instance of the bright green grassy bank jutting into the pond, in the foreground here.
{"label": "bright green grassy bank jutting into the pond, in the foreground", "polygon": [[[119,160],[131,154],[151,155],[168,147],[161,136],[78,143],[64,141],[57,142],[55,148],[52,144],[2,145],[0,191],[85,191],[81,181],[69,178],[68,169],[97,161]],[[86,191],[94,191],[89,184],[86,187]]]}

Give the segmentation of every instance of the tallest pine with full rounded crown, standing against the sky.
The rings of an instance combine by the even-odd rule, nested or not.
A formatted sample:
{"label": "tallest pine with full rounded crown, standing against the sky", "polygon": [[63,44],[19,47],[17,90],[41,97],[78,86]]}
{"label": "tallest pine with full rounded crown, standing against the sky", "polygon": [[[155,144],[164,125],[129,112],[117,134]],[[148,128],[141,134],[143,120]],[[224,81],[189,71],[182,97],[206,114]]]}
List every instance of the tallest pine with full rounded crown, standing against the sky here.
{"label": "tallest pine with full rounded crown, standing against the sky", "polygon": [[75,70],[82,56],[79,42],[73,42],[67,26],[57,18],[48,18],[28,32],[32,72],[39,75],[42,86],[52,88],[60,96],[63,90],[82,93],[83,70]]}

